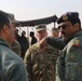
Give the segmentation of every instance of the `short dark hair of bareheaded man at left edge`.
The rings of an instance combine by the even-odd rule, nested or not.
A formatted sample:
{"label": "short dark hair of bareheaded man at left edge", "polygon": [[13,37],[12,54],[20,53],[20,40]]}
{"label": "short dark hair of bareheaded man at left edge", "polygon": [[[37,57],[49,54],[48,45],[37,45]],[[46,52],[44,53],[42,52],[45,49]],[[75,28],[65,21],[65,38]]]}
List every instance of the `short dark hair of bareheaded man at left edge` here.
{"label": "short dark hair of bareheaded man at left edge", "polygon": [[3,25],[8,25],[10,27],[9,24],[10,19],[2,11],[0,11],[0,30],[3,28]]}

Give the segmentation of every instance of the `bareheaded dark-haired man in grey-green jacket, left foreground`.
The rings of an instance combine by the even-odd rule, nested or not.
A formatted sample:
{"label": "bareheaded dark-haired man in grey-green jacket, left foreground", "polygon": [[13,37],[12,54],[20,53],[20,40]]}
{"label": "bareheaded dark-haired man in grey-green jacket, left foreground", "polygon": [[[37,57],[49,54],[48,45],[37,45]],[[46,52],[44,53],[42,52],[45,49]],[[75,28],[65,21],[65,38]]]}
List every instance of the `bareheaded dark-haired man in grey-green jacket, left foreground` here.
{"label": "bareheaded dark-haired man in grey-green jacket, left foreground", "polygon": [[13,40],[12,22],[0,11],[0,81],[27,81],[22,58],[11,50]]}

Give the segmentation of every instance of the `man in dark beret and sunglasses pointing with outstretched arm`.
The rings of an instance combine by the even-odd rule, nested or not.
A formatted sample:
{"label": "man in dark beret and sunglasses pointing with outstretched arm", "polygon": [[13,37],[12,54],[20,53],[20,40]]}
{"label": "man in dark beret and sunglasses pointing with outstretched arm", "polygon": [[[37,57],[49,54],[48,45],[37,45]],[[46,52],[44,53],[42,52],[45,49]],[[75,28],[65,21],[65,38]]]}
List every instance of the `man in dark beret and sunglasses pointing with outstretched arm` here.
{"label": "man in dark beret and sunglasses pointing with outstretched arm", "polygon": [[[59,48],[64,43],[62,55],[57,60],[57,78],[60,81],[82,81],[82,30],[79,13],[67,12],[58,18],[57,23],[64,42],[47,38],[43,39],[39,45],[42,48],[53,41],[52,44],[56,42]],[[46,44],[44,45],[42,42]],[[58,44],[59,42],[60,44]]]}

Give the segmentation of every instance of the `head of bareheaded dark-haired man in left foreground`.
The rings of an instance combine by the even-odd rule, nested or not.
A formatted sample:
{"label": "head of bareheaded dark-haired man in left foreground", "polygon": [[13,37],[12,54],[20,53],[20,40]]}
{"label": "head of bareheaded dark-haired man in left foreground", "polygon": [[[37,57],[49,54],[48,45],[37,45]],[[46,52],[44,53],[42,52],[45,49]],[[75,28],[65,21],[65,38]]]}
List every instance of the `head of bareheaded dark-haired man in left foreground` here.
{"label": "head of bareheaded dark-haired man in left foreground", "polygon": [[0,37],[10,44],[13,43],[14,29],[12,27],[12,22],[2,11],[0,11]]}

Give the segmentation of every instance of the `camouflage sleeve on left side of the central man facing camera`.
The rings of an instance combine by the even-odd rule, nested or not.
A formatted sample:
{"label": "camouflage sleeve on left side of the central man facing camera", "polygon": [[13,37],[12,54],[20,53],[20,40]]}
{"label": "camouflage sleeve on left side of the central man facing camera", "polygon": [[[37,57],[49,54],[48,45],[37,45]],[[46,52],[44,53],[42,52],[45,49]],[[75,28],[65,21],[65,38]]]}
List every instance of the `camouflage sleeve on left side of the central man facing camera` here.
{"label": "camouflage sleeve on left side of the central man facing camera", "polygon": [[33,81],[33,76],[32,76],[32,60],[31,60],[31,50],[28,49],[26,54],[25,54],[25,58],[24,58],[24,63],[26,65],[26,69],[27,69],[27,77],[28,77],[28,81]]}

